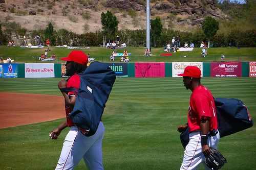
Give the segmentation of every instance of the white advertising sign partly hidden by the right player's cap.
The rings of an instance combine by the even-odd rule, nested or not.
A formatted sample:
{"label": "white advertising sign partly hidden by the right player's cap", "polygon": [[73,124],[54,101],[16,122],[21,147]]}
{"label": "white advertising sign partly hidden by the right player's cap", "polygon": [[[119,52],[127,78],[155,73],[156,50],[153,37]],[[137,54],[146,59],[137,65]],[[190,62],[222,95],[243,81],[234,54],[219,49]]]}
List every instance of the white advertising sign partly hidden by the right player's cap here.
{"label": "white advertising sign partly hidden by the right player's cap", "polygon": [[203,77],[203,62],[173,62],[173,77],[180,77],[178,74],[182,74],[186,66],[197,66]]}

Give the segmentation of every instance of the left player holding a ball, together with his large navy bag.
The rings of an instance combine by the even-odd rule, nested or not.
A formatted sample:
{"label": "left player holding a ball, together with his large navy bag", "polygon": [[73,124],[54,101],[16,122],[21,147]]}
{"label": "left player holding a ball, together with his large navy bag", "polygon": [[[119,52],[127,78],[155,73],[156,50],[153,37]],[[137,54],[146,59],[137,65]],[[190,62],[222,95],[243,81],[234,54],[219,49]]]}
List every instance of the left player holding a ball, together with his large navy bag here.
{"label": "left player holding a ball, together with his large navy bag", "polygon": [[104,125],[101,115],[115,82],[115,72],[100,62],[88,65],[88,56],[82,51],[71,51],[66,61],[66,76],[58,83],[65,99],[66,120],[49,134],[58,139],[69,127],[63,141],[56,170],[74,169],[83,159],[88,169],[104,169],[102,139]]}

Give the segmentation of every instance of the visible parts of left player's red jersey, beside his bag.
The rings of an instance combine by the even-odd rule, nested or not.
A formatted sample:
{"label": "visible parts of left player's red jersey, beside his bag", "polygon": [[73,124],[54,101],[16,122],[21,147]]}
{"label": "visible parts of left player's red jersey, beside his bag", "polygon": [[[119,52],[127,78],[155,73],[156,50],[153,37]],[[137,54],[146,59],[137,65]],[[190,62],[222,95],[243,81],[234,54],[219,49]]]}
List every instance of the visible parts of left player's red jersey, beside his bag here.
{"label": "visible parts of left player's red jersey, beside his bag", "polygon": [[[74,88],[78,89],[79,85],[80,85],[80,76],[76,75],[76,74],[71,76],[69,78],[68,82],[67,82],[67,87],[74,87]],[[74,94],[72,92],[69,92],[68,95],[72,96],[72,95],[76,95],[76,94]],[[66,117],[67,117],[68,126],[69,127],[75,126],[74,123],[72,122],[71,118],[68,117],[68,115],[72,111],[72,109],[69,106],[65,105],[65,110],[66,110]]]}

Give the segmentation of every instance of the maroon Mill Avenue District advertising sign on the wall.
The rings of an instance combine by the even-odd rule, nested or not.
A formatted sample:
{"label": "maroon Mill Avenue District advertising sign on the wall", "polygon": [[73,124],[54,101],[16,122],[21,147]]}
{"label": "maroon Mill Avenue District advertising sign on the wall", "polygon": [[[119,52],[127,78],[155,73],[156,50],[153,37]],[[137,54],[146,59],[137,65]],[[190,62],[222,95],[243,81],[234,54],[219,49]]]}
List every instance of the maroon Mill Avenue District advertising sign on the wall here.
{"label": "maroon Mill Avenue District advertising sign on the wall", "polygon": [[241,62],[212,62],[210,63],[211,77],[242,77]]}

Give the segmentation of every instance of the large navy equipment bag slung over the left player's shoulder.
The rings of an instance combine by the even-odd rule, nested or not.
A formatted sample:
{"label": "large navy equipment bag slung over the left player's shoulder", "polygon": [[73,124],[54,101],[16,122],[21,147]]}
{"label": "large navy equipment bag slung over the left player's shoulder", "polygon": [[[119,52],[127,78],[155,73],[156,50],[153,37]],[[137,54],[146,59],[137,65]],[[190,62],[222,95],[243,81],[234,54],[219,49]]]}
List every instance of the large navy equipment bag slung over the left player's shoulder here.
{"label": "large navy equipment bag slung over the left player's shoulder", "polygon": [[92,136],[96,133],[115,80],[115,72],[109,66],[95,61],[80,75],[79,89],[61,89],[77,94],[69,117],[83,135]]}

